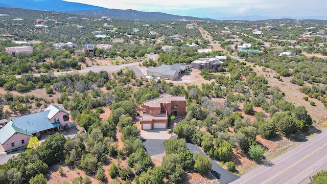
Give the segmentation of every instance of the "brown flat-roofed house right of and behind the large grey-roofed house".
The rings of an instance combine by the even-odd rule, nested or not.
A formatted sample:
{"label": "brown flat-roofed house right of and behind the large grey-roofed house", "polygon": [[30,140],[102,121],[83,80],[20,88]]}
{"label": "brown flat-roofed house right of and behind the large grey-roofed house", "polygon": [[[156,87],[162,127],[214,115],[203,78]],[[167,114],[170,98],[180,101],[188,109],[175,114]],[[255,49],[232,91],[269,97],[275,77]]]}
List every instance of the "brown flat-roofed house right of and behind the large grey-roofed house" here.
{"label": "brown flat-roofed house right of and behind the large grey-roofed house", "polygon": [[220,58],[199,58],[191,62],[191,67],[198,70],[202,70],[204,68],[208,70],[218,70],[223,63],[224,62],[220,61]]}

